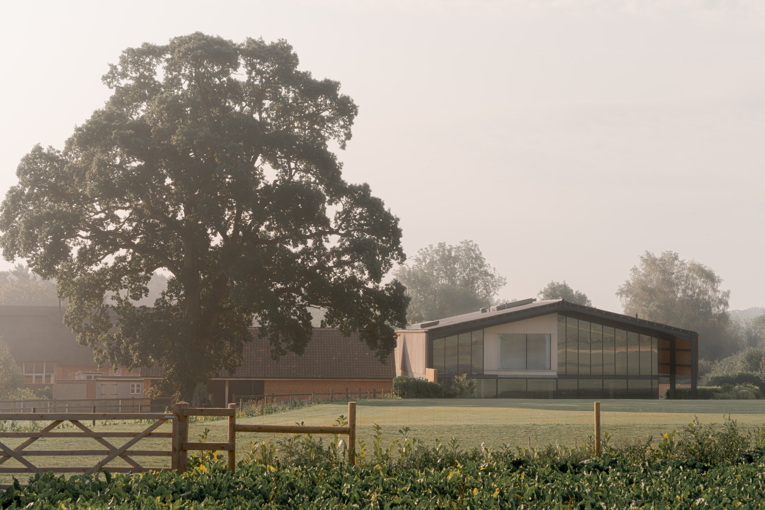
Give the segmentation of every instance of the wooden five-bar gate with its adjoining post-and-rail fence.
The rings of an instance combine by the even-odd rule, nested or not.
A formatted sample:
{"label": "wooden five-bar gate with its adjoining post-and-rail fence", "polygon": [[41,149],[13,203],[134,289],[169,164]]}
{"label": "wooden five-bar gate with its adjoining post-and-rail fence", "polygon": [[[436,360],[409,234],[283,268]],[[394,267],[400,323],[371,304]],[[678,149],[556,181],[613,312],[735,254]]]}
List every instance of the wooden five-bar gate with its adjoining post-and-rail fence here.
{"label": "wooden five-bar gate with its adjoining post-and-rail fence", "polygon": [[[190,416],[223,416],[228,417],[228,434],[225,443],[194,443],[189,442]],[[47,427],[35,432],[0,432],[0,438],[26,438],[18,447],[11,448],[0,440],[0,473],[83,473],[90,475],[101,469],[112,473],[138,473],[141,471],[166,471],[168,469],[184,473],[187,468],[187,455],[190,450],[224,450],[228,452],[228,467],[236,469],[236,433],[264,432],[281,434],[346,434],[348,436],[348,462],[356,463],[356,402],[348,402],[348,424],[343,427],[316,427],[309,425],[258,425],[237,424],[236,404],[228,408],[189,408],[186,402],[178,402],[172,413],[0,413],[0,421],[50,421]],[[141,432],[110,432],[96,431],[87,427],[83,422],[96,420],[155,420]],[[69,421],[79,431],[55,430],[63,422]],[[171,432],[158,432],[156,429],[171,421]],[[91,425],[92,426],[92,425]],[[73,438],[92,437],[106,450],[27,450],[35,441],[42,437]],[[110,443],[107,438],[129,438],[120,447]],[[145,438],[168,438],[172,440],[171,450],[137,450],[135,444]],[[37,456],[103,456],[93,466],[37,466],[28,457]],[[133,457],[140,456],[170,456],[171,467],[157,468],[142,466]],[[109,466],[107,463],[122,459],[129,466]],[[2,466],[8,460],[17,460],[21,466]]]}

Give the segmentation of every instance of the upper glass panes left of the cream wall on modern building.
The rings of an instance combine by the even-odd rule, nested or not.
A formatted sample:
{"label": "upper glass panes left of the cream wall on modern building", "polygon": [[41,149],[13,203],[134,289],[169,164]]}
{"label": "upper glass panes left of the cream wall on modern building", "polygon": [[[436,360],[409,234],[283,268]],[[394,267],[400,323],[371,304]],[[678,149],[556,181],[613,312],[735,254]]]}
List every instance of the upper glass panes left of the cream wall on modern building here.
{"label": "upper glass panes left of the cream wall on modern building", "polygon": [[439,374],[483,374],[483,330],[433,340]]}

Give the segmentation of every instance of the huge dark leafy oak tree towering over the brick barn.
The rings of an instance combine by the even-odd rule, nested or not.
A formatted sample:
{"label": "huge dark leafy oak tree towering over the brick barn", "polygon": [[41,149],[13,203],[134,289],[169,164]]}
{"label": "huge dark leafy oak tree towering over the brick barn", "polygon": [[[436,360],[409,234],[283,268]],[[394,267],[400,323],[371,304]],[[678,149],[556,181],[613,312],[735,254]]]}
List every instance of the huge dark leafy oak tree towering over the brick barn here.
{"label": "huge dark leafy oak tree towering over the brick barn", "polygon": [[[340,83],[298,70],[286,41],[201,33],[128,48],[103,82],[106,106],[63,151],[35,146],[0,211],[3,256],[57,278],[100,363],[158,363],[197,405],[253,319],[275,359],[302,353],[311,307],[387,359],[407,300],[381,281],[405,260],[401,229],[329,150],[357,113]],[[160,268],[167,290],[134,306]]]}

